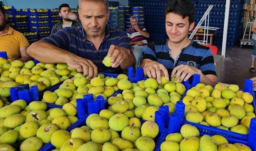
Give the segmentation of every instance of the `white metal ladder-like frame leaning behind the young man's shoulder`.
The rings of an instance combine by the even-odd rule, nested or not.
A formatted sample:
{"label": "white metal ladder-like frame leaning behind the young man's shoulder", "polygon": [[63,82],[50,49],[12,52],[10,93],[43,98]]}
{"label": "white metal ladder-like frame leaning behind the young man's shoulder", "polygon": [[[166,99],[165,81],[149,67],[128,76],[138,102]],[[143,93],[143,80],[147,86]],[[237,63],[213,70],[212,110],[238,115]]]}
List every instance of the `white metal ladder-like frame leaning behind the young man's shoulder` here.
{"label": "white metal ladder-like frame leaning behind the young man's shoulder", "polygon": [[[216,31],[217,29],[219,29],[219,28],[209,27],[209,16],[210,16],[210,11],[212,10],[213,6],[214,5],[210,5],[208,7],[208,9],[205,11],[205,13],[203,14],[201,20],[198,22],[197,26],[195,27],[194,31],[189,36],[189,39],[192,39],[195,36],[197,30],[199,28],[202,28],[202,29],[204,29],[203,41],[198,41],[198,43],[200,43],[200,44],[206,43],[207,44],[207,41],[208,41],[208,30],[215,30]],[[207,21],[207,26],[206,26],[206,21]],[[201,24],[203,22],[204,22],[204,26],[201,26]],[[207,30],[207,32],[206,32],[206,30]],[[206,36],[206,40],[205,40],[205,36]]]}

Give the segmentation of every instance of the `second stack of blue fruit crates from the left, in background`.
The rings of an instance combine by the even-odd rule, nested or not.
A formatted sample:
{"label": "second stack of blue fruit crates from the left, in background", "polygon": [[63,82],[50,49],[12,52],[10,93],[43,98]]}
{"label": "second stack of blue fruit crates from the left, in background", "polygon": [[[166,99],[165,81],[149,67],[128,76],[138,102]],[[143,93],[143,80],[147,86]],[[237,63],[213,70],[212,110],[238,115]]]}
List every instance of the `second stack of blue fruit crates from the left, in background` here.
{"label": "second stack of blue fruit crates from the left, in background", "polygon": [[27,9],[16,9],[16,21],[17,21],[17,31],[21,33],[29,32],[28,24],[28,10]]}

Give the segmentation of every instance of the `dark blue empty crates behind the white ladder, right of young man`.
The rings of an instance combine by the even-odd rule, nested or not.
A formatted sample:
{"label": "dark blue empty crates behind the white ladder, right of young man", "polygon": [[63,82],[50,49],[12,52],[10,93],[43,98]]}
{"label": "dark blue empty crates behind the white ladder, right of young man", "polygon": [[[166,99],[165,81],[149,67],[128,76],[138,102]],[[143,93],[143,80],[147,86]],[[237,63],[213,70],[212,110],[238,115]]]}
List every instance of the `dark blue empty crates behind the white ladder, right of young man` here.
{"label": "dark blue empty crates behind the white ladder, right of young man", "polygon": [[[221,46],[223,40],[223,27],[225,18],[226,1],[192,0],[195,6],[195,25],[200,21],[204,12],[210,5],[214,5],[210,11],[209,26],[219,28],[213,38],[213,45]],[[233,0],[230,2],[227,47],[233,47],[238,42],[243,31],[244,0]],[[202,23],[204,26],[204,22]]]}

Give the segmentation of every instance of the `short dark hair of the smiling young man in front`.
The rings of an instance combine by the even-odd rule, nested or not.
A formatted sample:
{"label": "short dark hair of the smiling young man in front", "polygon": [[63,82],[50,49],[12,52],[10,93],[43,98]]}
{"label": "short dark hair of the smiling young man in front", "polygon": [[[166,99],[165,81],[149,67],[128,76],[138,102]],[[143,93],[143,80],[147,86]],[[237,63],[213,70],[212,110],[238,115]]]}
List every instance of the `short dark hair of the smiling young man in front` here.
{"label": "short dark hair of the smiling young man in front", "polygon": [[169,0],[164,8],[164,15],[170,12],[182,16],[183,19],[188,17],[189,24],[195,20],[195,8],[190,0]]}

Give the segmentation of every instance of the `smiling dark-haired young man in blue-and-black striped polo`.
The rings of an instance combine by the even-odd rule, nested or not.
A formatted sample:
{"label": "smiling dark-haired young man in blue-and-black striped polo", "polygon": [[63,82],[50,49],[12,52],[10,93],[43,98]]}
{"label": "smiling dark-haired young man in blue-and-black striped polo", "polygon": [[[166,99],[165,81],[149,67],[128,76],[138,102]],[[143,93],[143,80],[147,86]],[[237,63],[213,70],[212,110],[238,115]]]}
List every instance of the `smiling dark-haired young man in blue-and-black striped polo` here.
{"label": "smiling dark-haired young man in blue-and-black striped polo", "polygon": [[[208,47],[188,39],[194,27],[194,6],[190,0],[171,0],[164,9],[165,30],[169,39],[152,42],[141,62],[144,76],[168,80],[187,81],[193,74],[200,74],[200,83],[215,86],[218,83],[214,58]],[[169,75],[170,74],[170,75]]]}

